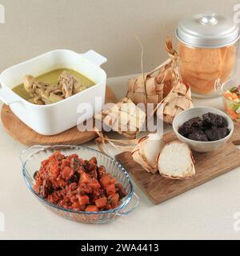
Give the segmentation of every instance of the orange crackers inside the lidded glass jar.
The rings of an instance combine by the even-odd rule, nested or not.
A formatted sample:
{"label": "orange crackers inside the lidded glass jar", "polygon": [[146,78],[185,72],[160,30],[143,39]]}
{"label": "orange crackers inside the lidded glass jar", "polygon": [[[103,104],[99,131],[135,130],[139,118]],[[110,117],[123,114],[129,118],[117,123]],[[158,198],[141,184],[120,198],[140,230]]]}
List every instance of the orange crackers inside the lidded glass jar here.
{"label": "orange crackers inside the lidded glass jar", "polygon": [[179,42],[179,66],[182,81],[197,94],[210,94],[214,82],[225,82],[234,70],[236,46],[194,48]]}

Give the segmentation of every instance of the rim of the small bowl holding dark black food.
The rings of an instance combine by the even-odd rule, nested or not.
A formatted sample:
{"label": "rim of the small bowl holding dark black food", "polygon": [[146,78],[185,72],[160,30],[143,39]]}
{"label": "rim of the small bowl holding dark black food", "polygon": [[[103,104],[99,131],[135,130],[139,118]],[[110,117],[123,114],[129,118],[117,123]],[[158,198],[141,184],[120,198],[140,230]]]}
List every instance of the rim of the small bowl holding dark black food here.
{"label": "rim of the small bowl holding dark black food", "polygon": [[[191,109],[188,109],[188,110],[183,110],[180,114],[178,114],[178,116],[177,116],[176,118],[178,118],[181,114],[186,113],[187,111],[193,110],[193,109],[218,110],[218,109],[216,109],[216,108],[214,108],[214,107],[210,107],[210,106],[195,106],[194,108],[191,108]],[[230,126],[234,127],[234,122],[232,121],[232,119],[231,119],[227,114],[225,114],[224,112],[222,112],[222,110],[218,110],[218,111],[222,113],[222,117],[226,118],[228,124],[229,124]],[[210,112],[210,111],[209,111],[209,112]],[[207,113],[207,112],[206,112],[206,113]],[[174,118],[174,120],[175,120],[176,118]],[[188,121],[188,120],[186,120],[185,122],[187,122],[187,121]],[[213,143],[215,143],[215,142],[223,142],[223,141],[225,141],[226,139],[230,138],[230,137],[232,136],[233,132],[234,132],[234,129],[231,128],[231,129],[230,129],[230,133],[229,133],[226,137],[224,137],[224,138],[218,139],[217,141],[201,142],[201,141],[194,141],[193,139],[186,138],[186,137],[182,136],[182,134],[179,134],[177,127],[174,125],[174,122],[173,122],[173,129],[174,129],[174,132],[175,132],[176,134],[178,134],[180,138],[186,139],[187,142],[198,142],[198,143],[201,143],[201,144],[213,144]]]}

